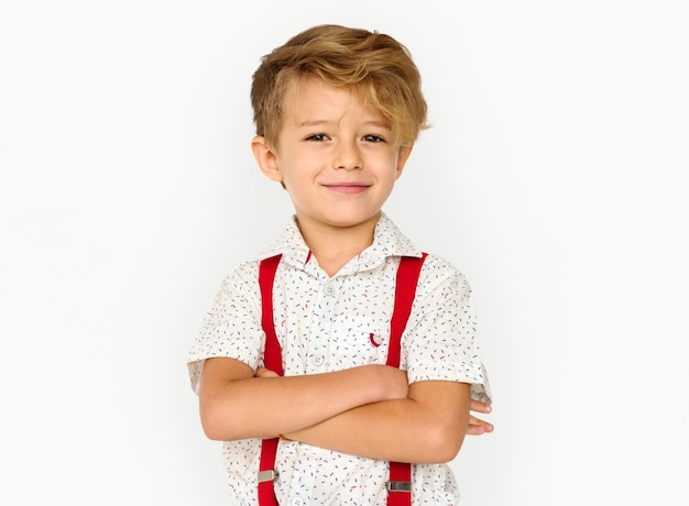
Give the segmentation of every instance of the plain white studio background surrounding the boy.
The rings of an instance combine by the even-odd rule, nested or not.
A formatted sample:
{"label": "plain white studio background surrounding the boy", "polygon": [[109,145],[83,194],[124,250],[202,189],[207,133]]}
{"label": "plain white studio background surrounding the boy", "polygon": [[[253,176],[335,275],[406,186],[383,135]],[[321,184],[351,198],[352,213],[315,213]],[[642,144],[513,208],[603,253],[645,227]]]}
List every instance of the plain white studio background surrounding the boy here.
{"label": "plain white studio background surrounding the boy", "polygon": [[2,2],[0,503],[228,504],[186,353],[291,213],[251,74],[332,22],[424,76],[386,211],[473,286],[496,429],[462,505],[689,504],[685,4]]}

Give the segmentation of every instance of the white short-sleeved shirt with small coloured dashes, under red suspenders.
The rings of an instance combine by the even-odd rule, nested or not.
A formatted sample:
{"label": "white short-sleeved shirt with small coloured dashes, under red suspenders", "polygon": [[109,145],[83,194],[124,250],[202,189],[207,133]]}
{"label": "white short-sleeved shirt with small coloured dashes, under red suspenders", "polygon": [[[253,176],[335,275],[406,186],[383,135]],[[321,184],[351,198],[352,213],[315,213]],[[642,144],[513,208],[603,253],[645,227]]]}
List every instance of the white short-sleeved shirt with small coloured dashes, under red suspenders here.
{"label": "white short-sleeved shirt with small coloured dashes, under red suspenders", "polygon": [[[385,364],[395,274],[402,255],[420,256],[392,220],[381,216],[371,246],[335,276],[322,271],[293,217],[258,258],[227,276],[188,356],[198,393],[204,360],[232,358],[262,365],[259,263],[282,254],[273,289],[275,332],[285,375],[316,374],[364,364]],[[429,254],[402,334],[400,367],[409,384],[451,381],[471,384],[472,397],[490,402],[490,386],[477,342],[477,319],[464,276]],[[269,407],[266,406],[266,409]],[[260,439],[227,441],[222,461],[233,506],[258,504]],[[385,505],[387,462],[296,441],[280,441],[275,494],[281,505]],[[456,505],[459,490],[447,464],[414,464],[414,505]]]}

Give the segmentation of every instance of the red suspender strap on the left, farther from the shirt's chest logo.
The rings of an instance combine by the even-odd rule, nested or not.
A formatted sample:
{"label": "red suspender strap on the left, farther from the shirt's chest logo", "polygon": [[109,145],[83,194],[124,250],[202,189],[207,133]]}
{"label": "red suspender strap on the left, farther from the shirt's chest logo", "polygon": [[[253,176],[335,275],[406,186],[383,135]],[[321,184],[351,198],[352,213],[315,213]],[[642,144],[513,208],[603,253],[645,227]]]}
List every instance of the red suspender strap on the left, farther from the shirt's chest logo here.
{"label": "red suspender strap on the left, farther from the shirt's chest logo", "polygon": [[[261,262],[259,267],[259,286],[261,287],[261,324],[265,332],[265,349],[263,363],[266,369],[284,374],[282,366],[282,349],[275,336],[273,321],[273,279],[280,264],[281,255],[271,256]],[[277,454],[277,438],[264,439],[261,443],[261,462],[259,463],[259,505],[277,506],[273,483],[277,473],[275,471],[275,455]]]}

